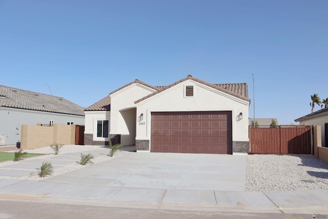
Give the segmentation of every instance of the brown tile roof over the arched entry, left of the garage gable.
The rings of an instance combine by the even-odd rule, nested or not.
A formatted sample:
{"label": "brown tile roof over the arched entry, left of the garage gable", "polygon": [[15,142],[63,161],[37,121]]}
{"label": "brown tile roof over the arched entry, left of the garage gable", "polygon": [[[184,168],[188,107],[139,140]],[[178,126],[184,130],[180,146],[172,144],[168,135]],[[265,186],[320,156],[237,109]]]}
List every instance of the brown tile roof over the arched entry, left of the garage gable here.
{"label": "brown tile roof over the arched entry, left of the garage gable", "polygon": [[95,104],[91,105],[90,107],[88,107],[87,109],[85,109],[85,111],[110,111],[110,109],[111,109],[111,97],[110,97],[110,95],[113,94],[113,93],[115,93],[115,92],[117,92],[117,91],[119,91],[119,90],[121,90],[121,89],[123,89],[123,88],[125,88],[125,87],[128,87],[128,86],[130,86],[132,84],[135,84],[135,83],[138,83],[138,84],[141,84],[141,85],[145,85],[145,86],[147,86],[149,88],[152,88],[154,90],[159,90],[158,87],[153,87],[153,86],[151,86],[149,84],[146,84],[145,82],[141,82],[138,79],[135,79],[133,82],[131,82],[129,84],[126,84],[126,85],[124,85],[124,86],[122,86],[122,87],[120,87],[120,88],[118,88],[118,89],[110,92],[108,94],[108,96],[106,96],[103,99],[100,99],[100,101],[98,101]]}

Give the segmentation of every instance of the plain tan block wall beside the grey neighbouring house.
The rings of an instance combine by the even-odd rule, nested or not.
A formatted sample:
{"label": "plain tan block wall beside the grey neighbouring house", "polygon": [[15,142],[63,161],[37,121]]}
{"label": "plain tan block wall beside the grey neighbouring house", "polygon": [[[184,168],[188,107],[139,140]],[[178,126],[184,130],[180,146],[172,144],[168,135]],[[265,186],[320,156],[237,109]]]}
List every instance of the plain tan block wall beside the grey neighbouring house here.
{"label": "plain tan block wall beside the grey neighbouring house", "polygon": [[75,144],[75,125],[22,125],[20,148],[23,150],[47,147],[53,144]]}

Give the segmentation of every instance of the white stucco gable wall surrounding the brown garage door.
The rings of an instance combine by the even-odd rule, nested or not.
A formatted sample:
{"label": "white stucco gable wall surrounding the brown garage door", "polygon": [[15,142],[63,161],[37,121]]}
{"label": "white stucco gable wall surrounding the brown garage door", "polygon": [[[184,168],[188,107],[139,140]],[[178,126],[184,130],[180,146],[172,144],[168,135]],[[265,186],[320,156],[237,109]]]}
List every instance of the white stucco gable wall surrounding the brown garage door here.
{"label": "white stucco gable wall surrounding the brown garage door", "polygon": [[[194,86],[194,96],[185,97],[185,86]],[[145,99],[137,106],[145,124],[137,123],[136,140],[150,140],[151,112],[165,111],[232,111],[233,141],[249,141],[249,102],[192,80],[182,82]],[[239,113],[242,120],[239,120]]]}

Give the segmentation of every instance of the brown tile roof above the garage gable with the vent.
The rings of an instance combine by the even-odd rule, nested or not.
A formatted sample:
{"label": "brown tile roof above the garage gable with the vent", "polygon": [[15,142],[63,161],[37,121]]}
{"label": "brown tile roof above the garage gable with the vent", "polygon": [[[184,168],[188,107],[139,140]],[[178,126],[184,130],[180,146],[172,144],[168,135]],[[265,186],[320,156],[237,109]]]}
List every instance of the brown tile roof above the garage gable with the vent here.
{"label": "brown tile roof above the garage gable with the vent", "polygon": [[193,80],[195,82],[199,82],[201,84],[207,85],[209,87],[215,88],[215,89],[220,90],[222,92],[231,94],[231,95],[236,96],[238,98],[244,99],[245,101],[249,101],[249,102],[251,101],[251,99],[248,98],[248,87],[247,87],[247,83],[241,83],[241,84],[210,84],[210,83],[204,82],[204,81],[202,81],[202,80],[200,80],[198,78],[195,78],[195,77],[193,77],[193,76],[191,76],[189,74],[187,77],[182,78],[180,81],[177,81],[177,82],[175,82],[175,83],[173,83],[173,84],[171,84],[169,86],[163,87],[160,90],[155,91],[154,93],[151,93],[151,94],[149,94],[147,96],[144,96],[144,97],[138,99],[137,101],[135,101],[134,103],[137,104],[137,103],[139,103],[141,101],[144,101],[145,99],[147,99],[147,98],[149,98],[151,96],[154,96],[157,93],[160,93],[162,91],[165,91],[165,90],[167,90],[167,89],[169,89],[169,88],[171,88],[171,87],[173,87],[173,86],[175,86],[177,84],[180,84],[181,82],[185,82],[185,81],[187,81],[189,79],[191,79],[191,80]]}

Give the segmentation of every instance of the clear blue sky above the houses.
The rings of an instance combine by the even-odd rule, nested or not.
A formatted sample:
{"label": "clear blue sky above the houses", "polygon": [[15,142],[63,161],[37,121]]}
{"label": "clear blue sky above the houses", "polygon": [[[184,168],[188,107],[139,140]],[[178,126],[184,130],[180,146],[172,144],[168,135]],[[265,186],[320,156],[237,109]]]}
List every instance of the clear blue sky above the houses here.
{"label": "clear blue sky above the houses", "polygon": [[[88,107],[134,79],[248,83],[279,124],[328,97],[328,1],[0,0],[0,85]],[[59,88],[59,89],[58,89]],[[316,106],[315,110],[320,107]]]}

